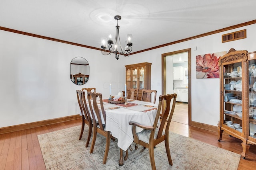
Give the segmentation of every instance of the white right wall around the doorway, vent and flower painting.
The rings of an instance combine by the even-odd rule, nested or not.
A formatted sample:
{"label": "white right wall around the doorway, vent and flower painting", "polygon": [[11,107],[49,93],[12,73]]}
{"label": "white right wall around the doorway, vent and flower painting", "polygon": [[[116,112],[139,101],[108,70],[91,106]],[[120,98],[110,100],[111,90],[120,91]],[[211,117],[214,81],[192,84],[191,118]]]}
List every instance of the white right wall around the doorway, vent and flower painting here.
{"label": "white right wall around the doorway, vent and flower painting", "polygon": [[[237,41],[222,43],[221,35],[233,31],[246,29],[247,38]],[[206,37],[192,39],[190,41],[177,43],[174,45],[145,51],[132,55],[133,58],[140,61],[153,63],[151,66],[151,89],[156,89],[161,93],[161,55],[172,51],[191,48],[191,106],[192,121],[217,126],[220,119],[220,79],[196,79],[196,55],[206,53],[215,53],[220,51],[229,51],[230,48],[236,50],[247,50],[248,52],[256,51],[256,24],[240,27],[222,33],[216,33]],[[194,51],[194,47],[197,50]],[[130,64],[130,63],[129,63]],[[158,93],[158,95],[160,94]]]}

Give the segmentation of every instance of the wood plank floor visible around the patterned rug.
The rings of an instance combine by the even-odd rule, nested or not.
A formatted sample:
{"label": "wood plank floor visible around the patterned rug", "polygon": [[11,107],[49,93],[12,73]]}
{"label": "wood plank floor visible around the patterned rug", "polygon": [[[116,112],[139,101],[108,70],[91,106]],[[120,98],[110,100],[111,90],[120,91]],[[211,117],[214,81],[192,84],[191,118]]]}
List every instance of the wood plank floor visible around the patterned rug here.
{"label": "wood plank floor visible around the patterned rug", "polygon": [[[37,135],[77,126],[80,121],[76,119],[0,135],[0,170],[45,170]],[[241,141],[228,135],[223,135],[222,141],[218,142],[217,132],[188,127],[175,121],[171,122],[169,130],[238,154],[242,152]],[[248,155],[245,160],[240,159],[238,170],[255,170],[256,146],[250,147]]]}

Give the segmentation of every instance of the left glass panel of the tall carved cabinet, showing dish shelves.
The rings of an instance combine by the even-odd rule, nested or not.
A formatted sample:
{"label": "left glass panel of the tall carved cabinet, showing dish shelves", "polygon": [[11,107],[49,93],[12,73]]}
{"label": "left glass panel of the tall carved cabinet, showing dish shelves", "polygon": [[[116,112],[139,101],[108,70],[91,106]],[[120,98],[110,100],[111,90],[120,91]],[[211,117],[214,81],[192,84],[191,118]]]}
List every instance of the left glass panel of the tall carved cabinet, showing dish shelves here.
{"label": "left glass panel of the tall carved cabinet, showing dish shelves", "polygon": [[242,62],[223,65],[223,123],[242,135]]}

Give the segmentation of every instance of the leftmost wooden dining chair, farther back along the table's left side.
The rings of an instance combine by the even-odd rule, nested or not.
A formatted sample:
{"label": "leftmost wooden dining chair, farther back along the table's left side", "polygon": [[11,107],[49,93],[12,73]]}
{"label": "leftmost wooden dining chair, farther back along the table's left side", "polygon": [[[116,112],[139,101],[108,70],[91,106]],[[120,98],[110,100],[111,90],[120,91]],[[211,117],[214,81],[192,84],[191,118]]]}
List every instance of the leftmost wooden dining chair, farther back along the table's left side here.
{"label": "leftmost wooden dining chair, farther back along the table's left side", "polygon": [[80,107],[80,111],[82,113],[82,127],[81,127],[79,140],[82,139],[82,135],[84,132],[84,124],[88,125],[89,131],[88,131],[88,137],[87,137],[87,141],[86,141],[86,145],[85,145],[85,147],[88,147],[90,138],[92,135],[93,122],[90,117],[90,112],[89,112],[87,104],[86,104],[85,92],[82,90],[76,90],[76,96],[77,96],[77,101],[78,101],[78,104]]}

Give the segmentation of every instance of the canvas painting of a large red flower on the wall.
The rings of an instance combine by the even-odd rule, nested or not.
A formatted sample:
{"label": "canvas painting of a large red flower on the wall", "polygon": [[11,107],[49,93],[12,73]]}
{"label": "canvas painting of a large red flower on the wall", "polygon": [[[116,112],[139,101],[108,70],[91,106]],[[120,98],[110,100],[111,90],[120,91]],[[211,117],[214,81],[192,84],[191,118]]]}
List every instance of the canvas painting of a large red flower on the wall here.
{"label": "canvas painting of a large red flower on the wall", "polygon": [[220,78],[218,61],[226,51],[197,55],[196,78]]}

